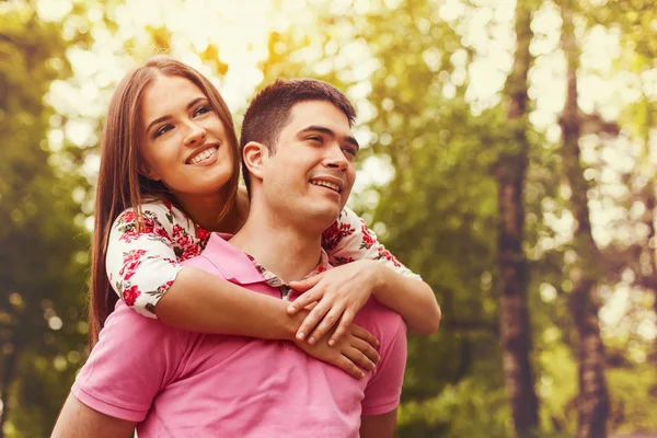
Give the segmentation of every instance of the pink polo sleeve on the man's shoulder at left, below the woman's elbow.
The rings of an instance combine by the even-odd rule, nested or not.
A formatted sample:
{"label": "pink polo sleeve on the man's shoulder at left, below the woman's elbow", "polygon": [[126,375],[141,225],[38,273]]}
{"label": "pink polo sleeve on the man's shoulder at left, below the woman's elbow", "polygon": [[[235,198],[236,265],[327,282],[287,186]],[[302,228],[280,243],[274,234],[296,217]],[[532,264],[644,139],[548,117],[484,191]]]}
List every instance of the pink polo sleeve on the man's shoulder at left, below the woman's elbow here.
{"label": "pink polo sleeve on the man's shoulder at left, below the woman's elbow", "polygon": [[171,328],[119,302],[71,391],[97,412],[141,422],[157,394],[175,379],[183,356]]}

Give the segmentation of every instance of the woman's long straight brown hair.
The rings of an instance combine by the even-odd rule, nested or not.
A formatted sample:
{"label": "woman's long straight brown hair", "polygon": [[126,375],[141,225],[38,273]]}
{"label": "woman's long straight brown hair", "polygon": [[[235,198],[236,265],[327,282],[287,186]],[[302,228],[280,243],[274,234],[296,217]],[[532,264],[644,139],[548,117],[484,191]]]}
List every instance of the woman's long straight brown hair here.
{"label": "woman's long straight brown hair", "polygon": [[[91,247],[91,285],[89,304],[89,347],[95,346],[105,320],[114,310],[118,295],[107,278],[105,258],[112,223],[127,208],[137,217],[147,197],[170,197],[160,182],[139,174],[139,130],[141,129],[141,101],[145,91],[158,74],[181,77],[189,80],[203,91],[210,105],[223,123],[233,155],[231,180],[221,188],[224,206],[223,217],[235,201],[240,159],[238,140],[230,111],[217,89],[192,67],[158,56],[128,72],[117,85],[110,102],[101,140],[101,169],[96,186],[95,220]],[[170,199],[175,203],[175,199]]]}

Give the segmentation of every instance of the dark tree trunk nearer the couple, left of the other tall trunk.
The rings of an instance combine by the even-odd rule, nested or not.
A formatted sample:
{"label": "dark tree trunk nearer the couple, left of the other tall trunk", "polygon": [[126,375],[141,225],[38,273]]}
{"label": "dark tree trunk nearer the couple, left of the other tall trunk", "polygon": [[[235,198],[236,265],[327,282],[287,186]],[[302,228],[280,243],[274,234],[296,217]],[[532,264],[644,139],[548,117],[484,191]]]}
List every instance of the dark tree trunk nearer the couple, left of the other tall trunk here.
{"label": "dark tree trunk nearer the couple, left of the other tall trunk", "polygon": [[497,263],[499,268],[500,337],[505,384],[514,427],[519,437],[535,436],[538,399],[530,364],[531,331],[527,308],[529,266],[522,251],[525,239],[525,178],[528,165],[527,76],[531,64],[529,43],[531,10],[526,1],[516,8],[514,71],[506,83],[510,97],[508,118],[514,141],[499,155],[497,180]]}

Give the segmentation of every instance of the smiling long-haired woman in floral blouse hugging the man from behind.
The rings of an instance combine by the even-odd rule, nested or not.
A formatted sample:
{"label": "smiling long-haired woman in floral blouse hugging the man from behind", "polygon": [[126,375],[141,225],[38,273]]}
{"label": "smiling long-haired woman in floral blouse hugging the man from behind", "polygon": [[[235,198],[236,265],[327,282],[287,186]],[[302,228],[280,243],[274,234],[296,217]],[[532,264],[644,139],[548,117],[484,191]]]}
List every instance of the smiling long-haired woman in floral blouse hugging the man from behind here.
{"label": "smiling long-haired woman in floral blouse hugging the man from behind", "polygon": [[[192,84],[205,99],[184,100],[182,89],[162,77],[184,79],[175,83]],[[349,209],[324,234],[331,262],[344,266],[292,285],[308,290],[298,303],[182,268],[180,262],[198,255],[210,232],[234,233],[244,223],[249,199],[238,187],[239,165],[230,112],[199,72],[157,57],[123,79],[101,143],[91,347],[119,297],[145,316],[187,331],[290,339],[354,374],[355,365],[370,368],[376,361],[362,343],[376,339],[350,326],[364,303],[353,299],[351,290],[360,297],[364,290],[374,293],[402,314],[411,331],[437,330],[440,314],[430,287],[385,251]],[[312,302],[316,306],[309,312],[306,306]],[[328,344],[339,347],[335,351],[316,343],[330,331]]]}

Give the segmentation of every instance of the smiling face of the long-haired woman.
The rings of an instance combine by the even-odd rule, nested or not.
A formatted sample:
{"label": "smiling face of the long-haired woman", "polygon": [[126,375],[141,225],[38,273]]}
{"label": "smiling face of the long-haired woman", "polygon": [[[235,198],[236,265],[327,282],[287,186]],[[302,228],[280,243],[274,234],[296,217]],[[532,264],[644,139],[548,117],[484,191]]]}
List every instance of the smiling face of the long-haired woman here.
{"label": "smiling face of the long-haired woman", "polygon": [[158,74],[141,102],[140,172],[180,201],[217,194],[233,173],[232,148],[207,96],[189,80]]}

